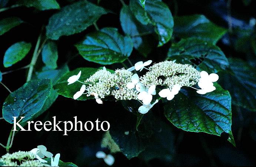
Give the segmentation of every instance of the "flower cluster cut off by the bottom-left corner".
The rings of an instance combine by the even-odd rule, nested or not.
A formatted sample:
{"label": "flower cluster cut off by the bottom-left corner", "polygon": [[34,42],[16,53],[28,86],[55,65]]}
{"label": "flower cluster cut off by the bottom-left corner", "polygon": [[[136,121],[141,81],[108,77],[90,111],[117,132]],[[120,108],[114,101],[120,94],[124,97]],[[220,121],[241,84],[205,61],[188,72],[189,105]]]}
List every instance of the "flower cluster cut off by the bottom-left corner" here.
{"label": "flower cluster cut off by the bottom-left corner", "polygon": [[37,148],[31,151],[18,151],[12,154],[5,154],[0,158],[0,163],[4,166],[49,166],[46,160],[42,158],[51,158],[51,166],[58,166],[60,154],[56,154],[53,159],[53,154],[46,151],[46,147],[43,145],[37,146]]}

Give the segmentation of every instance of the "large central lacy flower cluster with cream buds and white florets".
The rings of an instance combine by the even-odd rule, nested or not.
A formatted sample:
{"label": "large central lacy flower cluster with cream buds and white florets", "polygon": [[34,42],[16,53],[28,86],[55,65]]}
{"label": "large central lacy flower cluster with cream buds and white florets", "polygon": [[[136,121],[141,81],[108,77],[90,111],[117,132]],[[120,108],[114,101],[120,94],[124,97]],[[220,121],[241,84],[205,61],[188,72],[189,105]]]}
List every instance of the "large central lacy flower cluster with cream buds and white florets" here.
{"label": "large central lacy flower cluster with cream buds and white florets", "polygon": [[[210,74],[206,71],[198,71],[189,64],[178,64],[173,61],[163,61],[153,64],[148,69],[152,60],[137,62],[129,69],[117,69],[114,73],[108,71],[105,67],[98,70],[84,82],[79,81],[81,71],[75,76],[71,76],[67,81],[72,84],[76,81],[83,83],[81,89],[74,94],[74,99],[83,94],[94,96],[96,102],[103,104],[102,98],[112,95],[116,100],[139,100],[142,106],[138,111],[142,114],[147,113],[158,102],[152,103],[153,96],[156,95],[156,86],[164,86],[158,95],[167,100],[172,100],[179,93],[180,88],[192,87],[196,83],[202,89],[197,89],[197,93],[205,94],[215,90],[213,82],[218,80],[217,74]],[[149,70],[143,76],[139,77],[133,70]],[[192,87],[193,88],[193,87]],[[195,88],[196,89],[196,88]],[[84,93],[86,92],[86,93]]]}

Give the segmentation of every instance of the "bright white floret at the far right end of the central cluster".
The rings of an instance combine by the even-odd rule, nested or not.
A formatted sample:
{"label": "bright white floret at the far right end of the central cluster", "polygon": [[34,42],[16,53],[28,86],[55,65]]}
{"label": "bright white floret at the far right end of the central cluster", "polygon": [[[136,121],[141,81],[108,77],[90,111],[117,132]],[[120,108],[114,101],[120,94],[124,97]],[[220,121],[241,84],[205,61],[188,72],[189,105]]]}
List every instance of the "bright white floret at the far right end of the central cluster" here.
{"label": "bright white floret at the far right end of the central cluster", "polygon": [[197,84],[201,89],[197,90],[197,93],[206,94],[216,89],[216,87],[213,86],[213,82],[216,82],[219,79],[217,74],[212,73],[209,75],[206,71],[201,71],[200,76],[201,78]]}

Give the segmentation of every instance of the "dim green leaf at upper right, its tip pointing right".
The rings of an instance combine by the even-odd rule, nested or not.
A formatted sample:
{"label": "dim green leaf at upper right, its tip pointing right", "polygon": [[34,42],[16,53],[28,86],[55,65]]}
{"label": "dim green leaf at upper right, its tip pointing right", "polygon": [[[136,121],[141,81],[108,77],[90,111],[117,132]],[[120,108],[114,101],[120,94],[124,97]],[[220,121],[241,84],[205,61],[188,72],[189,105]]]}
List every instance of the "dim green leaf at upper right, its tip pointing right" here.
{"label": "dim green leaf at upper right, its tip pointing right", "polygon": [[195,37],[216,44],[227,30],[216,26],[203,15],[194,14],[175,16],[173,31],[180,38]]}

